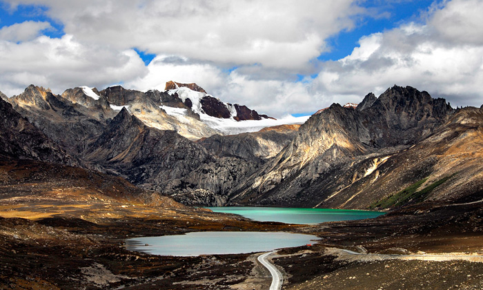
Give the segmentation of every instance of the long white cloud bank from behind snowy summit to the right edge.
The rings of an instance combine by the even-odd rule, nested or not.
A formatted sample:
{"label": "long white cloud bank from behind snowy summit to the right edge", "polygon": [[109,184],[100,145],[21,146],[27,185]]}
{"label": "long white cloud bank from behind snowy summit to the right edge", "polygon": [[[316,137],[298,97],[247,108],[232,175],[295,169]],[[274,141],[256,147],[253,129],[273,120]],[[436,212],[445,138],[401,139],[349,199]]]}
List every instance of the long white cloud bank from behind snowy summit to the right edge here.
{"label": "long white cloud bank from behind snowy summit to the right edge", "polygon": [[[357,103],[366,93],[379,95],[394,84],[428,90],[453,106],[480,106],[483,46],[477,42],[480,37],[466,32],[473,26],[473,19],[464,15],[483,12],[482,2],[451,1],[431,11],[424,23],[404,23],[364,36],[351,55],[326,61],[315,79],[283,79],[257,66],[226,72],[213,64],[195,64],[187,58],[168,61],[164,57],[153,61],[148,75],[132,85],[150,88],[159,81],[162,85],[157,88],[162,89],[169,79],[195,81],[225,101],[243,100],[250,108],[275,117],[311,113],[333,102]],[[447,27],[442,22],[459,24]],[[261,72],[266,75],[258,77]]]}

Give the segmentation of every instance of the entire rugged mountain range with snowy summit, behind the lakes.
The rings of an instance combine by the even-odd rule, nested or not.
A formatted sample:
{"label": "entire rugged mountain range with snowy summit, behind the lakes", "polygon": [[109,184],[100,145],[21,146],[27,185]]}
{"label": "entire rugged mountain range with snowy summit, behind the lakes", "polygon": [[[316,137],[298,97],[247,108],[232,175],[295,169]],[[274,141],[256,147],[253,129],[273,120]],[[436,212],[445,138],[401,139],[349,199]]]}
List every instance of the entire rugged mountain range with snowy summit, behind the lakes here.
{"label": "entire rugged mountain range with snowy summit, behind the lakes", "polygon": [[31,85],[0,102],[2,155],[115,175],[188,205],[394,209],[483,198],[483,109],[408,86],[271,127],[272,117],[174,81],[163,92],[61,95]]}

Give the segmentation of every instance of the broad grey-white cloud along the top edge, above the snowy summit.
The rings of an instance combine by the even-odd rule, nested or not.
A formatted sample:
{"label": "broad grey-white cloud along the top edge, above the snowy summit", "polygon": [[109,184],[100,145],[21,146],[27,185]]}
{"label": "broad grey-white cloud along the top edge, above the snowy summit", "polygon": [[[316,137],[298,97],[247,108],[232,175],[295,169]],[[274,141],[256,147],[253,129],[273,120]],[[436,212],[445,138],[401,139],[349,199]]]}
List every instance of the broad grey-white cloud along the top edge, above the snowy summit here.
{"label": "broad grey-white cloud along the top edge, above the snowy summit", "polygon": [[354,0],[10,0],[44,5],[79,41],[219,66],[302,70],[325,39],[354,26]]}

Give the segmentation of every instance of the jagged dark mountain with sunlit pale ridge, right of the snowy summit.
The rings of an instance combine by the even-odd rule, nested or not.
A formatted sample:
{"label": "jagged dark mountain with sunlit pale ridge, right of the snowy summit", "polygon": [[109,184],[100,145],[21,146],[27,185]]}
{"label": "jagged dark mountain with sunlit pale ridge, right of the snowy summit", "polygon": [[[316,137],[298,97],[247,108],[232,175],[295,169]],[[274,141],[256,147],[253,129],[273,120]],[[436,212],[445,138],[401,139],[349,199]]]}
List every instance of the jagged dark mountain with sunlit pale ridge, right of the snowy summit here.
{"label": "jagged dark mountain with sunlit pale ridge, right of the snowy summit", "polygon": [[376,101],[370,94],[362,109],[334,104],[308,119],[293,142],[233,194],[235,202],[323,204],[384,157],[428,137],[453,113],[444,99],[411,87],[395,86]]}

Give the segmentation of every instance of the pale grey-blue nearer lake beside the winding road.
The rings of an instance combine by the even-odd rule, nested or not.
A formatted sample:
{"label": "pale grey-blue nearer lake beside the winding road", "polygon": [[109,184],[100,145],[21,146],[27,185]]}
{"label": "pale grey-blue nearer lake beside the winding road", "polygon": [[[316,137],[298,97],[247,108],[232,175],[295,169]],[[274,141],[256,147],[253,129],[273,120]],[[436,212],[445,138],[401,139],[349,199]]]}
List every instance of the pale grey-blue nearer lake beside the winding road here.
{"label": "pale grey-blue nearer lake beside the winding road", "polygon": [[126,249],[153,255],[215,255],[272,251],[312,244],[315,235],[284,232],[206,231],[126,240]]}

